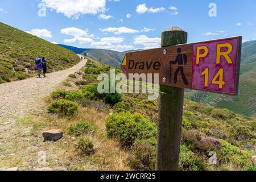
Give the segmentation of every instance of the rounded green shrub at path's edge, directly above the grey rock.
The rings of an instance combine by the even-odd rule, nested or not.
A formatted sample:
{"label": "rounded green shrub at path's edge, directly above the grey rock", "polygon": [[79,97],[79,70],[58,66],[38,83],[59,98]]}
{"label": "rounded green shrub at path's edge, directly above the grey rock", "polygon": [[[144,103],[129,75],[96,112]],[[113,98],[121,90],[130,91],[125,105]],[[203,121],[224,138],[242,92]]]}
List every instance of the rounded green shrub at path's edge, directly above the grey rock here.
{"label": "rounded green shrub at path's edge, directly above the grey rock", "polygon": [[63,114],[67,117],[72,117],[77,113],[78,105],[76,102],[67,100],[56,100],[51,102],[47,107],[49,113]]}

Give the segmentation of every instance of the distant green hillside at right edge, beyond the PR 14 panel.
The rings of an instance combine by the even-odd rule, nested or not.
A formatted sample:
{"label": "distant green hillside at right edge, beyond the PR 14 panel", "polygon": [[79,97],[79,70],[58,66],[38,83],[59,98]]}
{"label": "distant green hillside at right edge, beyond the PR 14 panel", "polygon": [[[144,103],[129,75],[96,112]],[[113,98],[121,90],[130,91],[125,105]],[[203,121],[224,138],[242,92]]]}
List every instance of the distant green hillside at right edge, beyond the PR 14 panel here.
{"label": "distant green hillside at right edge, beyond the PR 14 panel", "polygon": [[256,41],[242,44],[240,88],[237,97],[192,90],[186,97],[196,101],[226,108],[247,116],[256,115]]}

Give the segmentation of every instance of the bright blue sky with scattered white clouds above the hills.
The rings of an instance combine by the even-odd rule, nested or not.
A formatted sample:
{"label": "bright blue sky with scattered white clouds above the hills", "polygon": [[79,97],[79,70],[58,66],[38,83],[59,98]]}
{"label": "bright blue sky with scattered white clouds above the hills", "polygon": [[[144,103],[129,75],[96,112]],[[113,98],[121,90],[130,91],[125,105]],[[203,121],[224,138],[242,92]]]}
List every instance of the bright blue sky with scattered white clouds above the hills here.
{"label": "bright blue sky with scattered white clouds above the hills", "polygon": [[[217,16],[209,16],[210,3]],[[187,31],[188,42],[238,35],[256,40],[255,7],[255,0],[1,0],[0,22],[49,42],[125,51],[159,47],[170,26]]]}

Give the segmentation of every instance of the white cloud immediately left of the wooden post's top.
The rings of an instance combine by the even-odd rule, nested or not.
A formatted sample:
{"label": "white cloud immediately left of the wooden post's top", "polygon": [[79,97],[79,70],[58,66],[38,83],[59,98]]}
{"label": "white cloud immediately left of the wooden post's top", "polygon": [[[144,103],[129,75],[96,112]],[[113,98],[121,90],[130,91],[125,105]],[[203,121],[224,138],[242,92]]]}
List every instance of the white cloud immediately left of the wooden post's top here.
{"label": "white cloud immediately left of the wooden post's top", "polygon": [[134,44],[144,46],[144,49],[160,47],[160,38],[148,38],[146,35],[135,36]]}

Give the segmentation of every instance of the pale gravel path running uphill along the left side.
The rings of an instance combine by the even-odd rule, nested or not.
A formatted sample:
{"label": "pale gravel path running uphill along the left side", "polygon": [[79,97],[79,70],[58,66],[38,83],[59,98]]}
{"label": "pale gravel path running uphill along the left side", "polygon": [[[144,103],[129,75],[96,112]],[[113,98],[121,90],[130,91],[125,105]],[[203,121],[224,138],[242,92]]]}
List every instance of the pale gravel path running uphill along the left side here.
{"label": "pale gravel path running uphill along the left side", "polygon": [[23,170],[31,170],[31,163],[36,165],[36,152],[43,145],[39,143],[42,138],[27,135],[31,127],[20,126],[19,119],[31,115],[35,108],[40,109],[42,98],[49,96],[69,74],[79,71],[85,63],[81,61],[64,71],[49,73],[47,78],[34,77],[0,84],[0,171],[17,165],[23,166]]}

